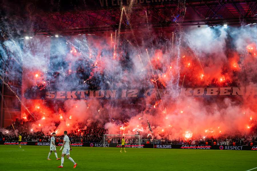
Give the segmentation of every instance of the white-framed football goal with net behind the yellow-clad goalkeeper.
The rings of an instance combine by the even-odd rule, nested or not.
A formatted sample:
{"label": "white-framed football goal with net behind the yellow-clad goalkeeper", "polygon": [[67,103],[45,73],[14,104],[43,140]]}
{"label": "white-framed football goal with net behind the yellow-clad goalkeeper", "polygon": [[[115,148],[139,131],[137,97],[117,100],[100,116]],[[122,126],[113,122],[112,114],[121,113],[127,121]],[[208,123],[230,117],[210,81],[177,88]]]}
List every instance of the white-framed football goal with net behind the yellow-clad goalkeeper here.
{"label": "white-framed football goal with net behind the yellow-clad goalkeeper", "polygon": [[[115,135],[115,134],[104,134],[103,135],[103,147],[105,144],[112,144],[113,147],[121,146],[121,139],[125,137],[125,147],[134,147],[134,148],[141,148],[141,140],[140,135]],[[120,141],[119,141],[120,140]],[[120,142],[120,143],[119,143]]]}

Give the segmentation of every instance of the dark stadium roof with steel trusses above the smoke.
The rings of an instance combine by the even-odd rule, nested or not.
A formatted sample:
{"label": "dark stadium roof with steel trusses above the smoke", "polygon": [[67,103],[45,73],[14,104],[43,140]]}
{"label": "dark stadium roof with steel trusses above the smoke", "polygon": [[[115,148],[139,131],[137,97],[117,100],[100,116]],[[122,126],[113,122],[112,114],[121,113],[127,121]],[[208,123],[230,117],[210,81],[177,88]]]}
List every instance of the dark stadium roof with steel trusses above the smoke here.
{"label": "dark stadium roof with steel trusses above the smoke", "polygon": [[[8,0],[3,3],[6,22],[19,23],[21,33],[36,35],[90,34],[115,30],[121,9],[128,11],[129,1],[122,0]],[[160,2],[159,2],[160,1]],[[133,29],[182,25],[240,25],[256,22],[256,0],[134,0],[130,19]],[[186,7],[186,8],[185,8]],[[185,12],[186,10],[186,12]],[[185,12],[185,15],[183,13]],[[181,22],[183,20],[183,22]],[[130,21],[123,17],[122,30]],[[19,28],[16,28],[19,29]]]}

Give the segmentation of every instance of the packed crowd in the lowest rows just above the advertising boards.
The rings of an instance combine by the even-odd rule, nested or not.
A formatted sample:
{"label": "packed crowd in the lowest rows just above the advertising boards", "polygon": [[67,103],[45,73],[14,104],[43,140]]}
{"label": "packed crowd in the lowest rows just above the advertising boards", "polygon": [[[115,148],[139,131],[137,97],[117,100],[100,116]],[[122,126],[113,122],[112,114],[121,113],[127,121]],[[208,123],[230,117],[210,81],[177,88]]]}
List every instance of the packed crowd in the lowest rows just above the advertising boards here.
{"label": "packed crowd in the lowest rows just above the advertising boards", "polygon": [[[50,142],[51,135],[45,134],[41,131],[34,132],[29,127],[29,122],[15,121],[13,125],[0,130],[0,141],[17,141],[18,133],[22,135],[23,141],[34,141],[34,142]],[[14,129],[15,131],[14,131]],[[75,130],[68,134],[71,142],[96,142],[102,143],[103,135],[106,130],[104,126],[89,126],[86,128],[81,128]],[[106,137],[105,143],[119,143],[121,137]],[[126,137],[126,143],[128,144],[138,144],[138,137]],[[56,142],[63,142],[63,136],[56,136]],[[141,144],[190,144],[190,145],[257,145],[257,133],[252,136],[237,136],[237,137],[222,137],[222,138],[180,138],[175,140],[167,140],[162,138],[160,140],[154,139],[152,137],[141,138]]]}

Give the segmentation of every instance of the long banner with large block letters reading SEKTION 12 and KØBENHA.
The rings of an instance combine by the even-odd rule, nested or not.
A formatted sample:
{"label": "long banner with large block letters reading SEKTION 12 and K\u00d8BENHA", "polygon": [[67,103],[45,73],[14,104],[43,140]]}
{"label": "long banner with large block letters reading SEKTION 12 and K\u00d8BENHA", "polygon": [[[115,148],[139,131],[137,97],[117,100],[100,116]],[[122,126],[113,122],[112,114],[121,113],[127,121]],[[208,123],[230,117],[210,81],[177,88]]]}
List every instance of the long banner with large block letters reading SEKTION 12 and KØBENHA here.
{"label": "long banner with large block letters reading SEKTION 12 and K\u00d8BENHA", "polygon": [[[155,91],[147,89],[116,89],[116,90],[64,90],[39,91],[37,93],[27,90],[26,99],[42,100],[68,100],[68,99],[125,99],[145,98],[156,93],[156,97],[169,96],[168,89]],[[158,93],[157,93],[158,92]],[[160,93],[159,93],[160,92]],[[181,88],[180,96],[185,97],[226,97],[226,96],[257,96],[257,87],[197,87]]]}

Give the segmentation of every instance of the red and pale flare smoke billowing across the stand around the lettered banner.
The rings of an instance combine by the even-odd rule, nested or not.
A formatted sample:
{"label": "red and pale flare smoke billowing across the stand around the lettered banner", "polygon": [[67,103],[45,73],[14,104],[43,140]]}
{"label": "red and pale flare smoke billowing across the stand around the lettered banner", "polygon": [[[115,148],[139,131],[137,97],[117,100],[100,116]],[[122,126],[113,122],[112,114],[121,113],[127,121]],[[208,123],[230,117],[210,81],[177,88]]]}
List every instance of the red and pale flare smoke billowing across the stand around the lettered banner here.
{"label": "red and pale flare smoke billowing across the stand around the lettered banner", "polygon": [[[230,28],[230,31],[225,28],[192,28],[178,32],[174,40],[167,35],[165,41],[160,41],[162,37],[152,33],[152,47],[145,35],[136,37],[143,40],[138,45],[128,39],[130,35],[123,35],[119,41],[116,38],[119,48],[115,58],[114,45],[110,44],[111,33],[71,37],[67,46],[55,47],[56,51],[63,52],[55,60],[62,58],[68,65],[60,65],[58,73],[52,74],[51,79],[47,72],[55,70],[51,69],[49,50],[38,48],[43,44],[49,47],[51,41],[35,38],[33,41],[37,43],[28,43],[25,51],[41,55],[36,59],[32,55],[28,58],[31,62],[23,66],[23,93],[33,86],[41,90],[49,88],[54,80],[60,90],[69,90],[71,85],[81,83],[87,90],[91,88],[91,81],[103,89],[106,85],[110,89],[152,86],[156,96],[152,94],[135,101],[86,98],[49,102],[23,98],[34,118],[24,107],[22,118],[33,120],[31,128],[35,131],[55,131],[57,134],[64,130],[78,130],[81,125],[105,124],[109,134],[134,134],[139,130],[147,136],[150,132],[146,120],[157,138],[249,134],[256,124],[255,97],[188,98],[180,97],[179,92],[181,87],[255,86],[256,36],[249,39],[245,32],[250,31],[256,32],[256,27]],[[39,56],[43,56],[41,60]],[[65,81],[69,75],[79,74],[81,69],[89,73],[87,77],[76,76],[72,81]],[[168,89],[170,94],[160,96],[163,89]],[[122,120],[125,126],[117,128],[111,118]]]}

